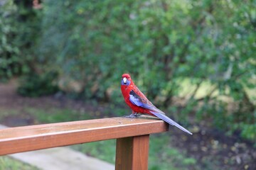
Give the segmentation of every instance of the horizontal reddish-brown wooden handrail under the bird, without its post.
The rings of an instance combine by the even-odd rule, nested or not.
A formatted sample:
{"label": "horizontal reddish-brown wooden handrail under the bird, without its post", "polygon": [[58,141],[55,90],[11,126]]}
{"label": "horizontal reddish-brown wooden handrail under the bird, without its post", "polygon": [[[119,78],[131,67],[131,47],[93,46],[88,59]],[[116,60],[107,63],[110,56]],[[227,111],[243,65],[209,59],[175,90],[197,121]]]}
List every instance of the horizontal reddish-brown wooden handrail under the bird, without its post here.
{"label": "horizontal reddish-brown wooden handrail under the bird, without its post", "polygon": [[103,118],[0,130],[0,155],[85,142],[165,132],[169,125],[149,118]]}

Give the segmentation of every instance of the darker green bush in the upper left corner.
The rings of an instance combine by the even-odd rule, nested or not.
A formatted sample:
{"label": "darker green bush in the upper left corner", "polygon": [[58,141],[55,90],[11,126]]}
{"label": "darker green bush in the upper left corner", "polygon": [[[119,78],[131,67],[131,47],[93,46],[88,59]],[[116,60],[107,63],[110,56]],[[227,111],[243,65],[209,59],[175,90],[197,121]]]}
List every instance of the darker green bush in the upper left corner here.
{"label": "darker green bush in the upper left corner", "polygon": [[2,1],[0,4],[0,80],[34,72],[40,13],[31,1]]}

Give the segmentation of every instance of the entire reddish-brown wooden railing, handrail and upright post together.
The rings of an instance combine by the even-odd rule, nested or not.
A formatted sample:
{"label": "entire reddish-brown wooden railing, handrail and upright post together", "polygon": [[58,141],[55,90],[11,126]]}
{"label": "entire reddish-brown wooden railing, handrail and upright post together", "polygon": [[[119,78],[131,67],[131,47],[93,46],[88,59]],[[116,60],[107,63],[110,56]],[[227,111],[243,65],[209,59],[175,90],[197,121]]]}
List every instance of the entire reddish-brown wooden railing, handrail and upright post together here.
{"label": "entire reddish-brown wooden railing, handrail and upright post together", "polygon": [[168,131],[162,120],[103,118],[0,130],[0,155],[117,139],[115,169],[148,169],[149,135]]}

